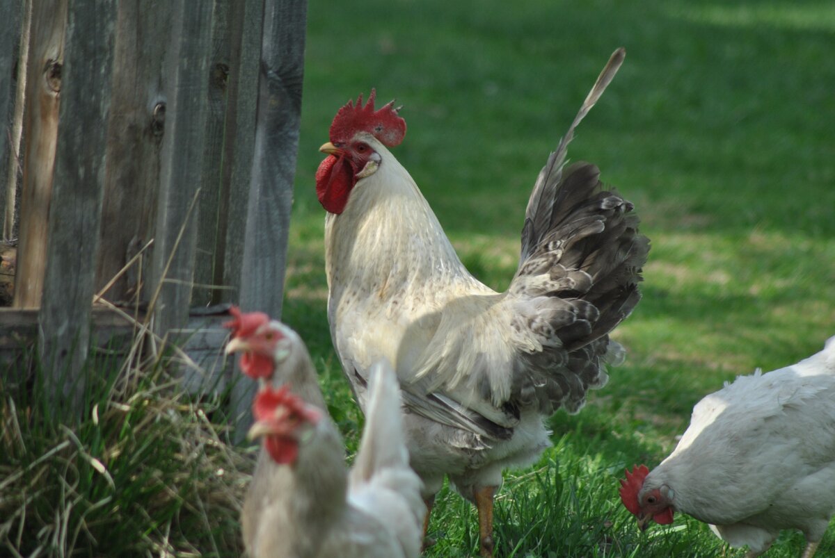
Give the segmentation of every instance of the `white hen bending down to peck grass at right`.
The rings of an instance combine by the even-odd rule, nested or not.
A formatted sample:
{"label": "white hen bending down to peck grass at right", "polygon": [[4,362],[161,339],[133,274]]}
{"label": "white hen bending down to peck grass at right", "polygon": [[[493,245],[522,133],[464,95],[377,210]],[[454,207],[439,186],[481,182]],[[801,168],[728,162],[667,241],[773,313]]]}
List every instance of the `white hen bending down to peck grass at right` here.
{"label": "white hen bending down to peck grass at right", "polygon": [[645,529],[675,511],[705,521],[747,556],[782,529],[817,549],[835,514],[835,337],[786,368],[740,376],[693,408],[671,455],[627,471],[620,498]]}

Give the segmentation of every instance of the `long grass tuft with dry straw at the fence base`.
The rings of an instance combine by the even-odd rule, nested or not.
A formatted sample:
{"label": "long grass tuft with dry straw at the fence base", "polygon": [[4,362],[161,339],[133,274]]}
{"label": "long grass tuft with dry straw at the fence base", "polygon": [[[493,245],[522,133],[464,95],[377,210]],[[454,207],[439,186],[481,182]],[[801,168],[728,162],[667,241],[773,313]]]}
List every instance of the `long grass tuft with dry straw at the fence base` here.
{"label": "long grass tuft with dry straw at the fence base", "polygon": [[190,400],[160,362],[90,359],[83,414],[50,403],[37,363],[5,370],[0,555],[240,555],[254,451],[228,443],[220,397]]}

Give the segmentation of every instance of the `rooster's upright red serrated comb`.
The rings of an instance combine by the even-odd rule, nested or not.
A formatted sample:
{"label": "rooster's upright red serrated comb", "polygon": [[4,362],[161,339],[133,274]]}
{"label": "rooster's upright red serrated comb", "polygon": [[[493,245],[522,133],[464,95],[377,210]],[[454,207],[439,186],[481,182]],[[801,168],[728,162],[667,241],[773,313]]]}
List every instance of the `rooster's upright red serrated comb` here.
{"label": "rooster's upright red serrated comb", "polygon": [[372,134],[380,143],[390,148],[403,141],[406,135],[406,121],[397,116],[399,108],[394,108],[394,101],[391,101],[375,111],[376,96],[377,92],[372,89],[368,95],[368,102],[363,107],[360,93],[356,105],[351,100],[339,109],[331,123],[332,143],[347,143],[355,133],[361,131]]}

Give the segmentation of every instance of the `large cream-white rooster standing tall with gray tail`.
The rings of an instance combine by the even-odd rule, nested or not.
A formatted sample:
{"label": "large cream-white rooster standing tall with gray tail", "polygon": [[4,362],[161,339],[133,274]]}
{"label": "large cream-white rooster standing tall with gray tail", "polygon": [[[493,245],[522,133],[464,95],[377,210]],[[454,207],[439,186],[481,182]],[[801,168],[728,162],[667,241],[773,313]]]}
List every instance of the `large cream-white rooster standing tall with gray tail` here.
{"label": "large cream-white rooster standing tall with gray tail", "polygon": [[[649,249],[633,206],[589,163],[564,168],[574,128],[624,58],[615,51],[531,194],[522,252],[497,293],[464,268],[406,169],[388,150],[406,123],[393,102],[349,102],[316,172],[326,209],[328,320],[362,409],[368,370],[394,364],[411,463],[431,510],[447,475],[478,508],[480,553],[493,552],[502,471],[549,447],[543,420],[576,412],[623,356],[609,332],[640,299]],[[425,527],[424,527],[425,535]]]}

